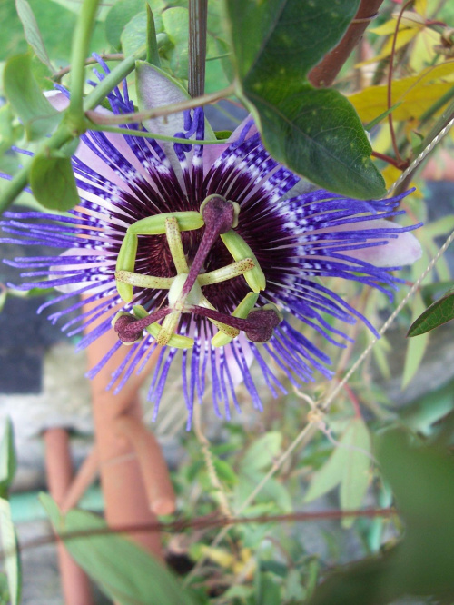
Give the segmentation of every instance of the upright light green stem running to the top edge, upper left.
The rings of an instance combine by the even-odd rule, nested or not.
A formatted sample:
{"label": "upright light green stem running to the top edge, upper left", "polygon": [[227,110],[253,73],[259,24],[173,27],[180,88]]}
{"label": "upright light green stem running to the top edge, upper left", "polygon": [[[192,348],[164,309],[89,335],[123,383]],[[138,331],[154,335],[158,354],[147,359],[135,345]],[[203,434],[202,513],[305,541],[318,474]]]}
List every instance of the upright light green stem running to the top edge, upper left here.
{"label": "upright light green stem running to the top edge, upper left", "polygon": [[71,53],[71,97],[68,115],[75,120],[84,117],[85,59],[90,50],[94,20],[99,0],[84,0],[75,26]]}

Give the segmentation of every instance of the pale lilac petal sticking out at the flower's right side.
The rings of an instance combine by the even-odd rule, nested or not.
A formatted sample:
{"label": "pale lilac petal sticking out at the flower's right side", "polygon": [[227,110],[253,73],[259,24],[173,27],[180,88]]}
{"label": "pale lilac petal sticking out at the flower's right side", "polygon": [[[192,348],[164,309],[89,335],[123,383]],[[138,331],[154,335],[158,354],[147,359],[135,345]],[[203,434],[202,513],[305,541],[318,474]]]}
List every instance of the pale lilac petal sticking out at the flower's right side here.
{"label": "pale lilac petal sticking out at the flower's right side", "polygon": [[[360,231],[361,229],[399,229],[397,225],[377,219],[376,221],[367,221],[363,223],[343,224],[338,227],[332,227],[332,232],[340,231]],[[405,264],[412,264],[422,255],[422,248],[413,233],[397,233],[397,237],[383,235],[386,245],[372,246],[370,248],[361,248],[360,250],[349,250],[348,255],[366,263],[371,263],[376,267],[400,267]]]}

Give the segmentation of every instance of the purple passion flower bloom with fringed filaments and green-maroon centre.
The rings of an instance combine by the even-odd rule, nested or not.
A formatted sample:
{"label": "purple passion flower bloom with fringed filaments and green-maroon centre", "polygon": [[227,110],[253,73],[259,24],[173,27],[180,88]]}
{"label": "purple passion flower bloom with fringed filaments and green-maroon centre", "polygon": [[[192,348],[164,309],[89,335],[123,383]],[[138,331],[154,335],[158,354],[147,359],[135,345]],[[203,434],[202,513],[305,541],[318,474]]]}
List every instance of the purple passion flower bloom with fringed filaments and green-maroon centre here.
{"label": "purple passion flower bloom with fringed filaments and green-maroon centre", "polygon": [[[140,64],[137,76],[145,108],[187,98],[152,65]],[[115,89],[108,99],[115,114],[134,111],[125,84],[123,94]],[[49,100],[60,109],[68,103],[64,90]],[[143,126],[155,134],[214,139],[201,108]],[[314,380],[314,370],[331,377],[330,359],[305,335],[311,328],[344,346],[346,335],[327,314],[349,324],[360,319],[376,333],[322,280],[341,277],[391,296],[400,280],[390,272],[420,255],[411,228],[385,220],[401,213],[396,208],[404,195],[359,201],[314,190],[268,154],[252,120],[230,144],[215,145],[163,143],[135,136],[137,125],[129,128],[131,135],[82,136],[73,160],[81,198],[74,210],[9,212],[2,223],[10,234],[4,242],[55,249],[51,256],[5,261],[25,270],[26,281],[14,287],[60,291],[40,311],[84,295],[50,315],[57,322],[81,310],[62,328],[69,336],[84,332],[78,349],[117,332],[91,377],[128,346],[109,385],[118,391],[161,346],[149,390],[156,414],[180,355],[189,426],[208,380],[219,415],[223,408],[229,418],[231,405],[239,409],[240,382],[262,409],[252,362],[274,396],[285,388],[272,366],[295,386]],[[92,303],[90,311],[84,303]]]}

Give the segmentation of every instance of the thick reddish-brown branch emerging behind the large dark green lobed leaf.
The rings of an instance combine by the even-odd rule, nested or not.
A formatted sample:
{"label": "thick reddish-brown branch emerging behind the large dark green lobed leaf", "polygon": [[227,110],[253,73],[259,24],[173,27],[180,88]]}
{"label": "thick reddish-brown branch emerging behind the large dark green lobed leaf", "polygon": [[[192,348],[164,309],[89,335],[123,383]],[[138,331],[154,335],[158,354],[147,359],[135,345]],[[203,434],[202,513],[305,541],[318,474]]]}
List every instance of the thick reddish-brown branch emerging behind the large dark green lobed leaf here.
{"label": "thick reddish-brown branch emerging behind the large dark green lobed leaf", "polygon": [[316,88],[331,86],[342,65],[347,61],[361,35],[377,15],[383,0],[361,0],[358,12],[351,21],[341,42],[325,55],[309,74],[309,81]]}

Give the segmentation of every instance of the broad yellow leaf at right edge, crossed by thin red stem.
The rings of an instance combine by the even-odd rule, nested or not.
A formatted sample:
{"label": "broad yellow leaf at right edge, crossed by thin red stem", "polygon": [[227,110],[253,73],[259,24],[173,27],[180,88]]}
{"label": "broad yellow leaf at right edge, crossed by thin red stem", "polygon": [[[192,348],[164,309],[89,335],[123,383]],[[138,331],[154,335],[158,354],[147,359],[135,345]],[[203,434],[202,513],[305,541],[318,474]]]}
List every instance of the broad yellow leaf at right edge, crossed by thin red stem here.
{"label": "broad yellow leaf at right edge, crossed by thin red stem", "polygon": [[[428,67],[418,75],[395,80],[392,83],[391,104],[402,102],[392,113],[394,120],[410,120],[418,117],[452,87],[452,82],[436,82],[440,78],[454,76],[454,61]],[[351,104],[367,123],[388,109],[388,86],[370,86],[360,93],[350,94]]]}

